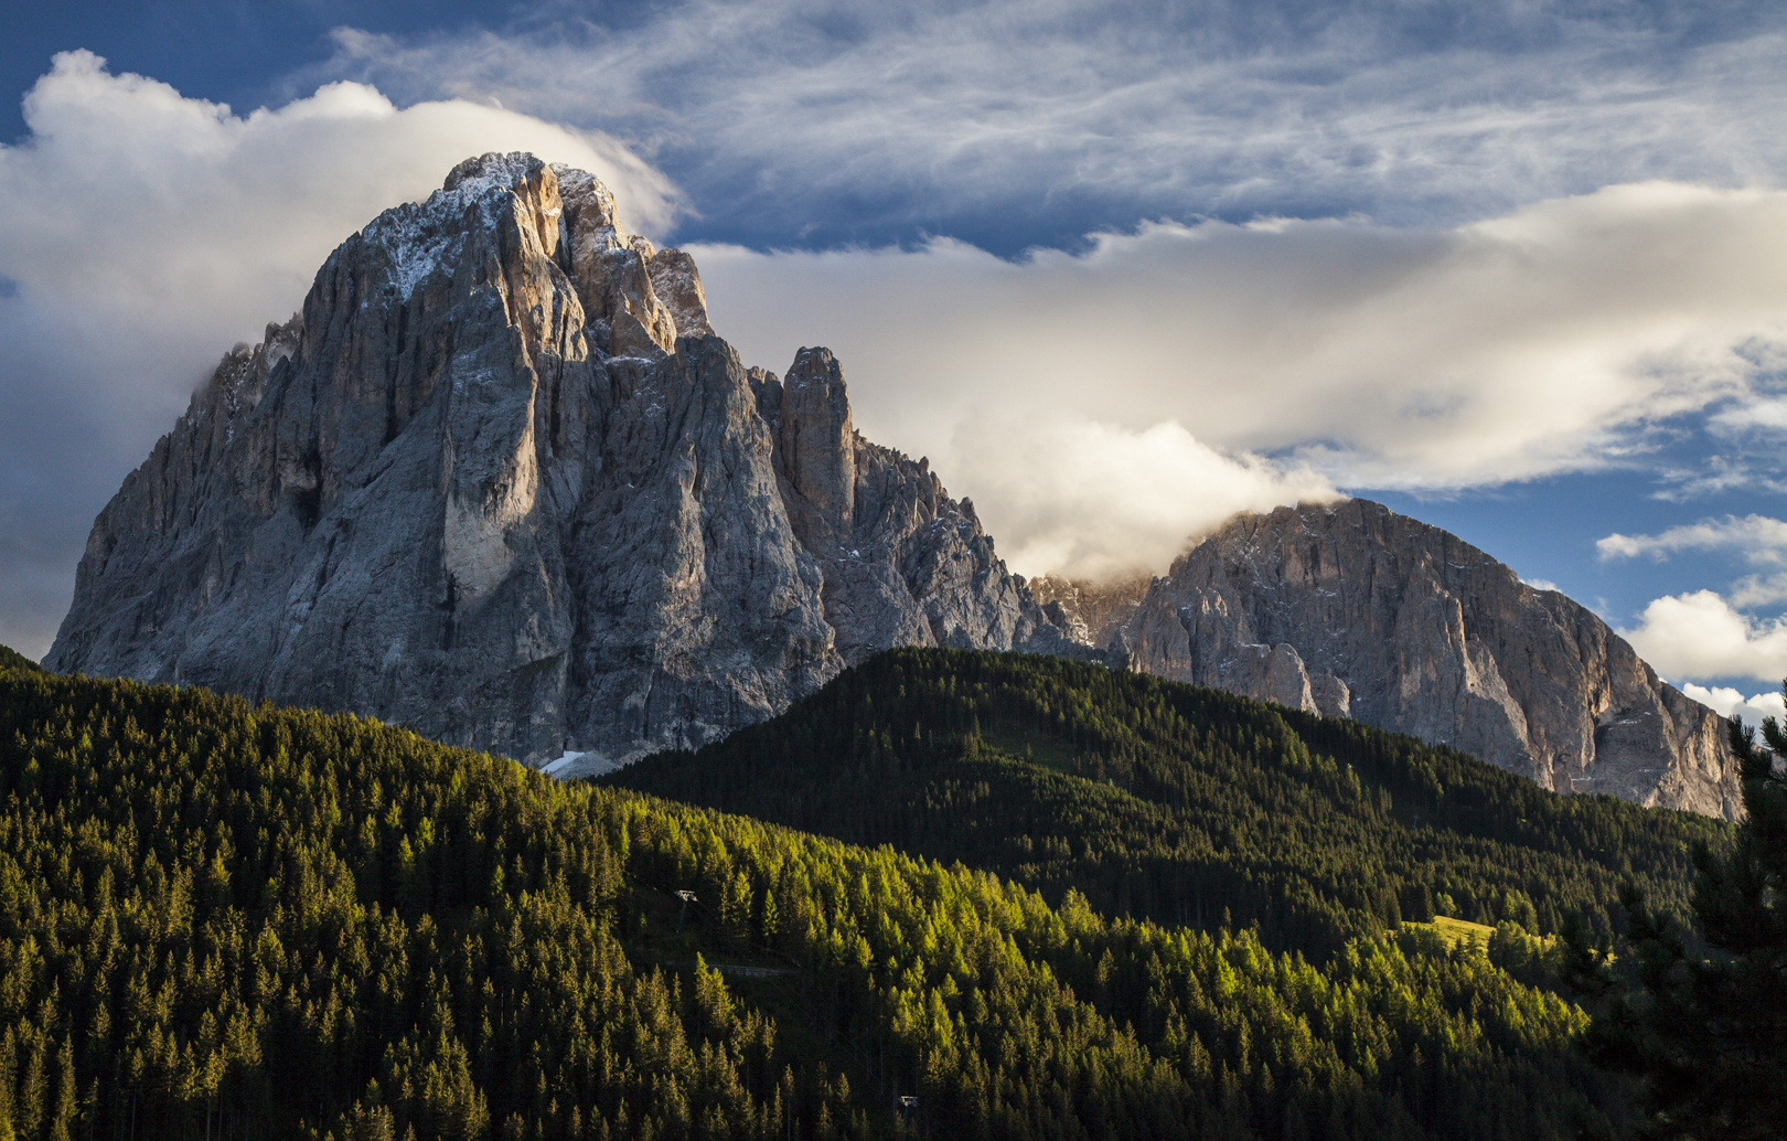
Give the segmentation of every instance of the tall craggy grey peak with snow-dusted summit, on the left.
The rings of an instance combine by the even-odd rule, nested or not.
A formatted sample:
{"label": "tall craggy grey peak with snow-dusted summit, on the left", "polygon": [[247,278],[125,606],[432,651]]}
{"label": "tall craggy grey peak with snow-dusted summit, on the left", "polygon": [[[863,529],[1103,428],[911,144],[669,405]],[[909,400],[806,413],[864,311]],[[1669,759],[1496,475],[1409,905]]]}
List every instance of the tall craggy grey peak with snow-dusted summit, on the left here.
{"label": "tall craggy grey peak with snow-dusted summit, on the left", "polygon": [[591,175],[461,163],[232,352],[100,513],[46,663],[584,771],[890,646],[1085,653],[972,504],[708,325]]}

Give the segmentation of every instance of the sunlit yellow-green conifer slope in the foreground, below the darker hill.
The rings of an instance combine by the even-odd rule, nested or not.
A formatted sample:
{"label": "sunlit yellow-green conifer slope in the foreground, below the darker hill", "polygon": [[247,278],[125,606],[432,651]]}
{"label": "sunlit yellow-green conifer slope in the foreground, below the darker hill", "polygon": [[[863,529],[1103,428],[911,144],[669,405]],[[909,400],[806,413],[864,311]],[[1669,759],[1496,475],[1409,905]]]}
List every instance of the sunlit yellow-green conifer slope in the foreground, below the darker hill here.
{"label": "sunlit yellow-green conifer slope in the foreground, below the darker hill", "polygon": [[1624,1114],[1569,1048],[1580,1010],[1417,935],[1315,968],[370,721],[25,669],[0,671],[0,1136],[30,1141],[1524,1139]]}

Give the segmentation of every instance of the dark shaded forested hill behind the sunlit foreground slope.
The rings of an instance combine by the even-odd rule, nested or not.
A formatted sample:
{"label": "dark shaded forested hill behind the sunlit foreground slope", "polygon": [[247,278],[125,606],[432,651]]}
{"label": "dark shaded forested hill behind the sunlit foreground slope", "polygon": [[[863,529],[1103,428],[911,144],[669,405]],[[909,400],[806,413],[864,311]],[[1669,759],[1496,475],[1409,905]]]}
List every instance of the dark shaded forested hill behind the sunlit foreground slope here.
{"label": "dark shaded forested hill behind the sunlit foreground slope", "polygon": [[901,649],[701,753],[606,778],[1013,876],[1158,923],[1326,955],[1435,912],[1621,925],[1635,880],[1685,914],[1730,826],[1556,796],[1353,721],[1061,658]]}

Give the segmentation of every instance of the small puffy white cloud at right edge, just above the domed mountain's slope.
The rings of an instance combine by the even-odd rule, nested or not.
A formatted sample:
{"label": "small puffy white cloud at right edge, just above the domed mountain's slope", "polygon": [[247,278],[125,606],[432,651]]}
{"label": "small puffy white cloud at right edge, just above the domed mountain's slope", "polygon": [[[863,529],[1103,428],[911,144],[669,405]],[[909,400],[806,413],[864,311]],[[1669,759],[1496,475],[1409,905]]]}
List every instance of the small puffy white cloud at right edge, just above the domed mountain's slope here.
{"label": "small puffy white cloud at right edge, just above the domed mountain's slope", "polygon": [[1660,597],[1619,633],[1667,678],[1787,678],[1787,621],[1739,613],[1712,590]]}

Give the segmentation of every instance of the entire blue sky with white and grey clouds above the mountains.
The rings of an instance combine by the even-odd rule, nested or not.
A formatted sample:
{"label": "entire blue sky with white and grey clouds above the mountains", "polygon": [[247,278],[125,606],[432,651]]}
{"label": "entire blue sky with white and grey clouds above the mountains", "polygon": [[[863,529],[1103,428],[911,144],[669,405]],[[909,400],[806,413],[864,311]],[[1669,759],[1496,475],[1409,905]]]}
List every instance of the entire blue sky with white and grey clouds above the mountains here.
{"label": "entire blue sky with white and grey clouds above the mountains", "polygon": [[[25,5],[18,5],[25,7]],[[1020,572],[1365,495],[1721,712],[1787,676],[1787,7],[29,5],[0,642],[231,345],[461,157],[599,173],[747,363],[843,363]],[[39,11],[41,9],[41,11]]]}

